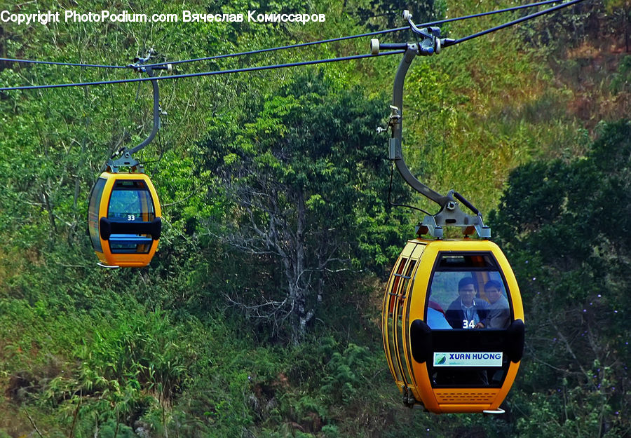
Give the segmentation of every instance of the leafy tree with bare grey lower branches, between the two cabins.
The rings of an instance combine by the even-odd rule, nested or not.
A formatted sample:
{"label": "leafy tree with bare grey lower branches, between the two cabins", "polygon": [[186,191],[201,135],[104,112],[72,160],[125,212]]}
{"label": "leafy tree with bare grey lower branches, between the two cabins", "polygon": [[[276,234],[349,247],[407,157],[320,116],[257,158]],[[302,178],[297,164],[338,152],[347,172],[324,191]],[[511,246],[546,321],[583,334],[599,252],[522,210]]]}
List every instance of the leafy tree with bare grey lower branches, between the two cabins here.
{"label": "leafy tree with bare grey lower branches, between the two cabins", "polygon": [[253,103],[251,116],[218,123],[203,144],[216,186],[233,203],[229,242],[277,264],[269,269],[283,279],[257,301],[243,293],[231,300],[276,327],[289,322],[292,343],[323,294],[339,287],[328,286],[335,274],[385,261],[397,237],[396,223],[386,222],[388,167],[375,131],[385,107],[305,74]]}

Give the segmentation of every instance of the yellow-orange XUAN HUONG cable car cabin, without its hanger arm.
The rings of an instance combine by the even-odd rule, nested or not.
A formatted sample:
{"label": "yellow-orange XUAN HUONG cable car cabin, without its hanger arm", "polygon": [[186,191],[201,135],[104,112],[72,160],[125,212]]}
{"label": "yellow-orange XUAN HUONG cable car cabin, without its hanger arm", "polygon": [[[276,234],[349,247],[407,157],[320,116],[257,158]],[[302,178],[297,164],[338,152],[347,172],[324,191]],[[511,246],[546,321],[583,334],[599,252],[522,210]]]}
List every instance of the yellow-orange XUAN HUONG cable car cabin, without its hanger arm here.
{"label": "yellow-orange XUAN HUONG cable car cabin, without its hanger arm", "polygon": [[520,366],[524,310],[493,242],[409,240],[388,280],[381,324],[404,404],[501,413]]}

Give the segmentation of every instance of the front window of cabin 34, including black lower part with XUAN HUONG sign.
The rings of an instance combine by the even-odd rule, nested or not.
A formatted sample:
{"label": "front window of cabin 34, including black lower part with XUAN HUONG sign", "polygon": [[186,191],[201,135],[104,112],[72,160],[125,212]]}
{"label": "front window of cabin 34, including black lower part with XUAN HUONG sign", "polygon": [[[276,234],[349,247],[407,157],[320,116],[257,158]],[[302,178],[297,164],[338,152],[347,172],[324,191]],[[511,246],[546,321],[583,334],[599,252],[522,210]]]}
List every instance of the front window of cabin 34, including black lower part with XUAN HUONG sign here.
{"label": "front window of cabin 34, including black lower part with XUAN HUONG sign", "polygon": [[428,364],[434,388],[501,386],[508,370],[503,329],[513,322],[508,292],[492,254],[439,254],[426,306],[435,333]]}

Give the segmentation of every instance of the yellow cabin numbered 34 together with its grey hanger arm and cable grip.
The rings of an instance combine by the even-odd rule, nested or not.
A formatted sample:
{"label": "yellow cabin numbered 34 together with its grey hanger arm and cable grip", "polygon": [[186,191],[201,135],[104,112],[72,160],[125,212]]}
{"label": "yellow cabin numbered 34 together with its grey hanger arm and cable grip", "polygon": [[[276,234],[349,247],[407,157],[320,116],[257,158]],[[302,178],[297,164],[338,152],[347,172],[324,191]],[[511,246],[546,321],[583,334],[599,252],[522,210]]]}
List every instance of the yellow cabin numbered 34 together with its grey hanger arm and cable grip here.
{"label": "yellow cabin numbered 34 together with its grey hanger arm and cable grip", "polygon": [[[522,299],[506,256],[488,240],[491,230],[480,211],[456,191],[446,196],[433,191],[405,164],[405,75],[414,57],[440,53],[455,40],[441,39],[438,27],[419,29],[408,11],[403,18],[420,41],[371,41],[374,55],[381,49],[403,52],[390,106],[389,158],[404,181],[440,210],[430,214],[412,207],[426,214],[416,235],[435,240],[409,240],[390,275],[381,315],[386,360],[407,406],[434,413],[501,413],[524,351]],[[465,237],[443,240],[445,227],[461,228]],[[468,238],[473,233],[480,239]]]}

